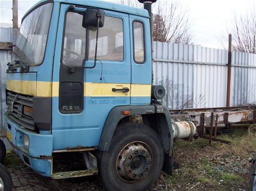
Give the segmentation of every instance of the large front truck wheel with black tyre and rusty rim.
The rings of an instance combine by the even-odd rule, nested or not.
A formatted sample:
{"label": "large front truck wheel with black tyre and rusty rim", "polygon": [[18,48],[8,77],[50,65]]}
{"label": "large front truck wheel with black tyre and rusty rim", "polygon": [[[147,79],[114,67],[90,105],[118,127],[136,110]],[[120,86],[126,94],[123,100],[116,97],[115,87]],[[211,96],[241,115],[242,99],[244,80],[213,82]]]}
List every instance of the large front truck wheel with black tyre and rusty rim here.
{"label": "large front truck wheel with black tyre and rusty rim", "polygon": [[99,157],[100,181],[106,190],[142,191],[163,167],[163,148],[156,132],[139,123],[117,126],[109,150]]}

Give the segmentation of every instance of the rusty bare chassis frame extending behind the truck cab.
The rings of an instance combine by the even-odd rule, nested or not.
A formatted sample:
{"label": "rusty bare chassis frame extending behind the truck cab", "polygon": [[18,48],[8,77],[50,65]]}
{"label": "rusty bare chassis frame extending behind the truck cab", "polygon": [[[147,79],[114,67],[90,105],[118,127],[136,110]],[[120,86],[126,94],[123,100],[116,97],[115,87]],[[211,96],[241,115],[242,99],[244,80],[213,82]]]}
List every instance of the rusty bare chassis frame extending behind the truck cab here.
{"label": "rusty bare chassis frame extending behind the truck cab", "polygon": [[[229,141],[217,139],[218,128],[248,127],[256,124],[256,105],[229,108],[202,108],[169,110],[173,121],[192,121],[197,127],[198,135],[203,139],[230,144]],[[209,136],[205,135],[209,128]]]}

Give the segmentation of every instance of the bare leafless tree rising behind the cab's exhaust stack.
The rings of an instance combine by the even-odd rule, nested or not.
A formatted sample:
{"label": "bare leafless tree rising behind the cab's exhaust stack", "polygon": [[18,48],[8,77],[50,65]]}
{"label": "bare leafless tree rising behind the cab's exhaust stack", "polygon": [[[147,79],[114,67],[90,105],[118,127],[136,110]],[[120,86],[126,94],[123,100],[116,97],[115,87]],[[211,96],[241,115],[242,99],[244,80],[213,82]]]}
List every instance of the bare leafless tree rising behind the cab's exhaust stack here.
{"label": "bare leafless tree rising behind the cab's exhaust stack", "polygon": [[[137,0],[117,0],[116,3],[143,8]],[[153,4],[153,40],[167,43],[193,44],[189,10],[175,1]]]}

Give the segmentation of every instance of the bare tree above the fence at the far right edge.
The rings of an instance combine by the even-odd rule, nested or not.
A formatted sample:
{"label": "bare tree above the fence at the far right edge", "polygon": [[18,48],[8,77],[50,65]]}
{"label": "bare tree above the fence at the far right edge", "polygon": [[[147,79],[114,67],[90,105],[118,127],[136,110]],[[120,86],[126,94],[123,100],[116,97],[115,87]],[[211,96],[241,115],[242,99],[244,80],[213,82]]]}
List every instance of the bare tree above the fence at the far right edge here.
{"label": "bare tree above the fence at the far right edge", "polygon": [[[237,16],[234,13],[230,29],[227,29],[227,34],[232,34],[232,50],[239,52],[256,53],[256,10],[253,6],[247,11],[247,15]],[[228,35],[221,36],[221,44],[224,49],[227,49],[226,40]]]}

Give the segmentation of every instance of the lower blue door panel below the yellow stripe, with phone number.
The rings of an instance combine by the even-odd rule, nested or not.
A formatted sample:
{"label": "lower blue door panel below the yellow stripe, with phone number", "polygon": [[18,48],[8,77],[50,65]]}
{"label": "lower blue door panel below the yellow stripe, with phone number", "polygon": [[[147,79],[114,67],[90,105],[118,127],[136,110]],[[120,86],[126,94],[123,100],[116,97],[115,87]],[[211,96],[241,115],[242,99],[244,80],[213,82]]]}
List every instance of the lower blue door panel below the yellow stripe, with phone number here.
{"label": "lower blue door panel below the yellow stripe, with phone number", "polygon": [[98,146],[110,110],[129,102],[130,97],[84,97],[83,112],[61,114],[58,109],[59,97],[53,97],[53,149]]}

